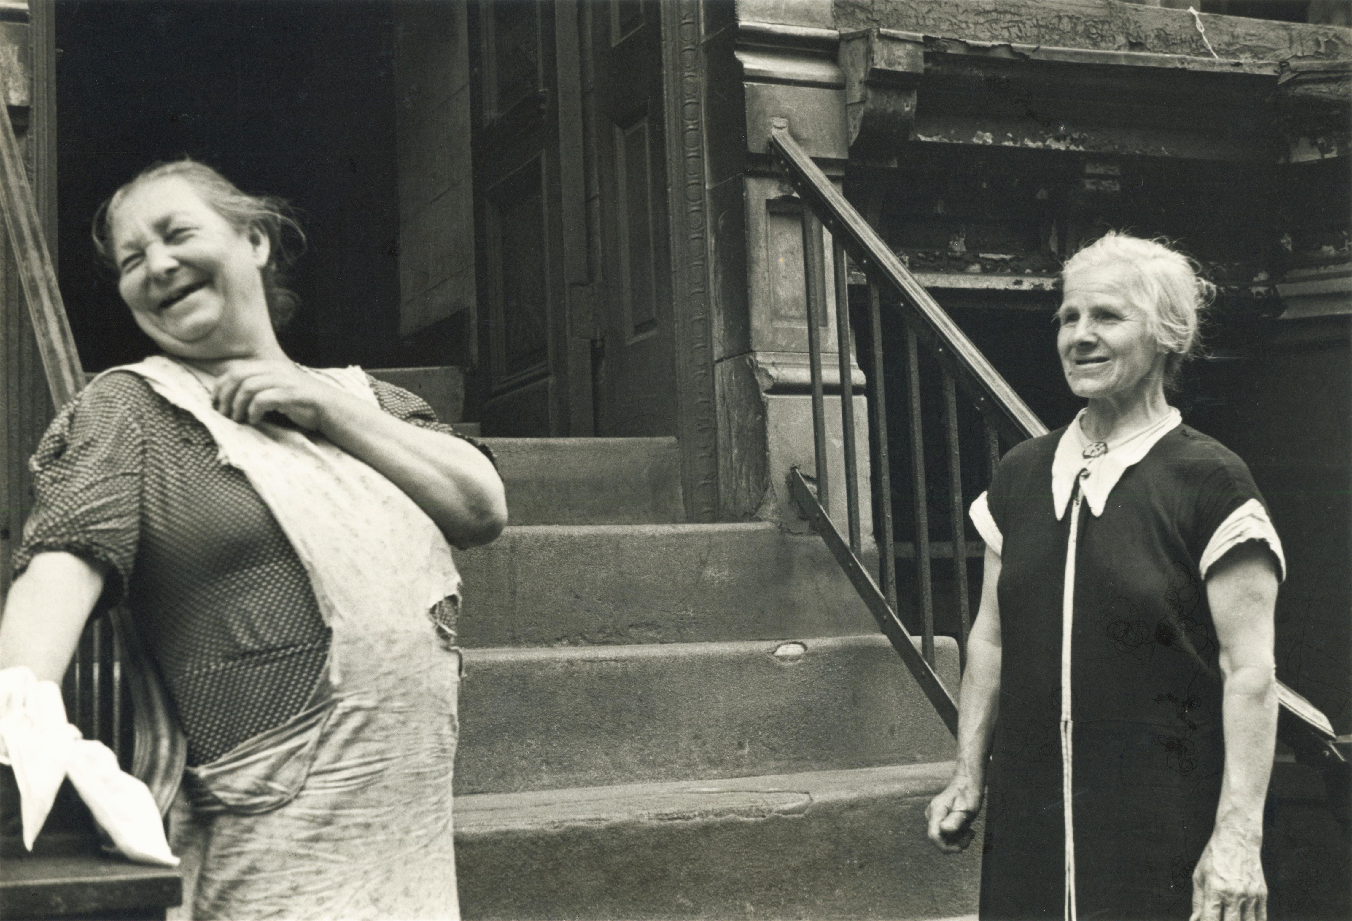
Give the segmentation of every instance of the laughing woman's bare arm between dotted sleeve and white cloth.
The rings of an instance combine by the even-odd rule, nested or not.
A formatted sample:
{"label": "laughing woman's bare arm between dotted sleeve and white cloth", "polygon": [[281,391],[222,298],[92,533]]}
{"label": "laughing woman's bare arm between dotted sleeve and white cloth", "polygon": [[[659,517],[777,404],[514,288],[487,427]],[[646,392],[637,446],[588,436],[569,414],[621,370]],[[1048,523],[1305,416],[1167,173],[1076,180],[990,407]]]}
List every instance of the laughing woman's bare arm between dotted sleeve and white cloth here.
{"label": "laughing woman's bare arm between dotted sleeve and white cloth", "polygon": [[5,598],[0,668],[28,666],[38,681],[59,682],[104,578],[101,569],[74,554],[34,556]]}

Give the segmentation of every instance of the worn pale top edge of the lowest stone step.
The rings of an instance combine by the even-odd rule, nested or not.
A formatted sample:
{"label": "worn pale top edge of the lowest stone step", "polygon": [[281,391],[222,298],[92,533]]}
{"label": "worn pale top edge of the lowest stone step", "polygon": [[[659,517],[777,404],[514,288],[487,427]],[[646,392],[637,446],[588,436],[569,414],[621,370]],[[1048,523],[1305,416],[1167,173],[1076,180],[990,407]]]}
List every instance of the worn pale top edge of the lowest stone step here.
{"label": "worn pale top edge of the lowest stone step", "polygon": [[[475,793],[456,797],[456,837],[561,832],[633,822],[710,822],[807,816],[814,806],[940,793],[953,762],[887,764],[719,781],[621,783],[604,787]],[[915,829],[923,837],[925,831]]]}

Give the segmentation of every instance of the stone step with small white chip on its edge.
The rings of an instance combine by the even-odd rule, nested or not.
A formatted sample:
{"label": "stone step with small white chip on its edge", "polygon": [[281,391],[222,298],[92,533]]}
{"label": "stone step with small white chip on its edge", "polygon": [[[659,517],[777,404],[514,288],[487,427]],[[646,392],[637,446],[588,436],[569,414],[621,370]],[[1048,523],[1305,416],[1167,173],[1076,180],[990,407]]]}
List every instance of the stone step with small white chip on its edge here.
{"label": "stone step with small white chip on its edge", "polygon": [[[957,644],[937,637],[957,690]],[[469,650],[457,793],[938,762],[953,737],[880,633]]]}

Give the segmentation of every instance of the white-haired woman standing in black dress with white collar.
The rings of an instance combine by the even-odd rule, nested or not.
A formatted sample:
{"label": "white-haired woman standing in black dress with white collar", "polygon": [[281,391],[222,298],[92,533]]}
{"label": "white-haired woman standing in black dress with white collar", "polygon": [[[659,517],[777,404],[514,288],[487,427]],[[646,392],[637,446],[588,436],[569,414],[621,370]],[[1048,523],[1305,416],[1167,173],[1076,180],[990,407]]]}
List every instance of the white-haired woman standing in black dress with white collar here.
{"label": "white-haired woman standing in black dress with white collar", "polygon": [[1286,563],[1248,467],[1165,401],[1213,290],[1124,234],[1071,258],[1057,351],[1088,405],[972,504],[986,578],[927,818],[956,852],[984,802],[982,918],[1265,918]]}

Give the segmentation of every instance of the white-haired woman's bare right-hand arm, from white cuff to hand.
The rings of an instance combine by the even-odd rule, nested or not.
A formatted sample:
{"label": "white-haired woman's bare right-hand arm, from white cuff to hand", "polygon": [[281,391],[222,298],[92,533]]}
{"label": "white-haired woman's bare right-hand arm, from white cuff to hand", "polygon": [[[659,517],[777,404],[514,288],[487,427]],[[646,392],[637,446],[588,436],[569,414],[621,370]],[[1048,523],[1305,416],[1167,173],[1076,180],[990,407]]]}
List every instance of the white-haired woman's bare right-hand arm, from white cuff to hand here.
{"label": "white-haired woman's bare right-hand arm, from white cuff to hand", "polygon": [[1192,874],[1192,918],[1265,917],[1259,851],[1276,745],[1276,586],[1272,554],[1257,542],[1228,552],[1206,577],[1221,646],[1225,771],[1215,826]]}

